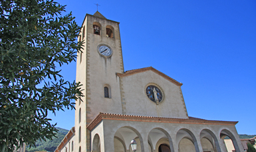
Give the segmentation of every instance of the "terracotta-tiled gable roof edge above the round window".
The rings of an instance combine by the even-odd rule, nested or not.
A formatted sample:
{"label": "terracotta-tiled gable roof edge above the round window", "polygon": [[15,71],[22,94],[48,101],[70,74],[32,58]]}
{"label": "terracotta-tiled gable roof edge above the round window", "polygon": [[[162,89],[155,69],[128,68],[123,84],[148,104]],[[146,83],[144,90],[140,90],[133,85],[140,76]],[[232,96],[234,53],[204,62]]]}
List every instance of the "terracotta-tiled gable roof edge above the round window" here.
{"label": "terracotta-tiled gable roof edge above the round window", "polygon": [[134,75],[136,73],[142,73],[142,72],[145,72],[145,71],[153,71],[154,73],[156,73],[158,75],[161,75],[162,77],[164,77],[168,81],[174,83],[175,85],[178,85],[178,86],[183,85],[182,83],[179,83],[178,81],[172,79],[172,77],[169,77],[168,75],[158,71],[154,67],[144,67],[144,68],[141,68],[141,69],[132,69],[132,70],[129,70],[129,71],[125,71],[124,73],[117,73],[116,75],[118,75],[118,77],[127,77],[129,75]]}

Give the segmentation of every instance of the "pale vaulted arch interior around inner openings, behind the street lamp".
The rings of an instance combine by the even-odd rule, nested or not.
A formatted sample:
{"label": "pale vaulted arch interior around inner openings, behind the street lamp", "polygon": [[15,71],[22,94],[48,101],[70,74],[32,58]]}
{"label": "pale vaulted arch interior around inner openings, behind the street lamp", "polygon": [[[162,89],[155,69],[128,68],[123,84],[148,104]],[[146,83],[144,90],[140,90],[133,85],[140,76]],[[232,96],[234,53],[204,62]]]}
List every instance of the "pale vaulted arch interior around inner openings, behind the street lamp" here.
{"label": "pale vaulted arch interior around inner openings, behind the street lamp", "polygon": [[[135,129],[130,126],[123,126],[116,130],[114,137],[118,137],[121,143],[124,144],[126,151],[130,151],[130,141],[135,139],[137,141],[137,150],[136,152],[144,152],[144,145],[142,135]],[[116,152],[116,143],[114,143],[114,151]]]}

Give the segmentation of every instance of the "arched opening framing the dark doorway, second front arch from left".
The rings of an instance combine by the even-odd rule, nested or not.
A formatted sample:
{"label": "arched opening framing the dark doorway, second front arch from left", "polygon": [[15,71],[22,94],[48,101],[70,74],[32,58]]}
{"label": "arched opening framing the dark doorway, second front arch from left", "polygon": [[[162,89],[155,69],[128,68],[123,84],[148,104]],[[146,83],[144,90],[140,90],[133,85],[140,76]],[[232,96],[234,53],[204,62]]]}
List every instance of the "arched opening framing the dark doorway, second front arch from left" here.
{"label": "arched opening framing the dark doorway, second front arch from left", "polygon": [[151,130],[148,134],[148,142],[152,144],[152,151],[174,151],[174,146],[170,134],[162,128],[154,128]]}

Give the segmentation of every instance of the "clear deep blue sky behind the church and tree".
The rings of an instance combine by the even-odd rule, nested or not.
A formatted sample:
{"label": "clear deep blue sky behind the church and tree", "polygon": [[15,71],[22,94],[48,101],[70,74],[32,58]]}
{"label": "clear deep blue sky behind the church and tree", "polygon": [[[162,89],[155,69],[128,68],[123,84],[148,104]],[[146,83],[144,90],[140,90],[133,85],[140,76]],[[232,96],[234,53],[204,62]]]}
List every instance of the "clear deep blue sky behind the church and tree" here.
{"label": "clear deep blue sky behind the church and tree", "polygon": [[[183,83],[188,115],[239,121],[256,134],[256,1],[59,0],[81,25],[98,11],[120,22],[124,70],[152,66]],[[62,67],[74,81],[76,63]],[[74,110],[49,115],[70,130]]]}

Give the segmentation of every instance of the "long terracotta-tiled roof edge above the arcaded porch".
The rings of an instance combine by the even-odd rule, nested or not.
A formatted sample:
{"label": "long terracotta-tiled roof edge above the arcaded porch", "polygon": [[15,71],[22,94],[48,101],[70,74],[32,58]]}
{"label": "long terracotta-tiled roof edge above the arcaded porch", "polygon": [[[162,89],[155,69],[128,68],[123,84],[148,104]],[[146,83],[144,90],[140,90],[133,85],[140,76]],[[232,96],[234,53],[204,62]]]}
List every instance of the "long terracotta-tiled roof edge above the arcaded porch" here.
{"label": "long terracotta-tiled roof edge above the arcaded porch", "polygon": [[102,120],[122,120],[122,121],[136,121],[136,122],[160,122],[170,124],[210,124],[210,125],[229,125],[235,126],[237,122],[219,121],[219,120],[204,120],[200,118],[189,117],[188,119],[183,118],[163,118],[163,117],[152,117],[152,116],[133,116],[123,114],[108,114],[101,113],[88,124],[88,130],[93,130]]}

